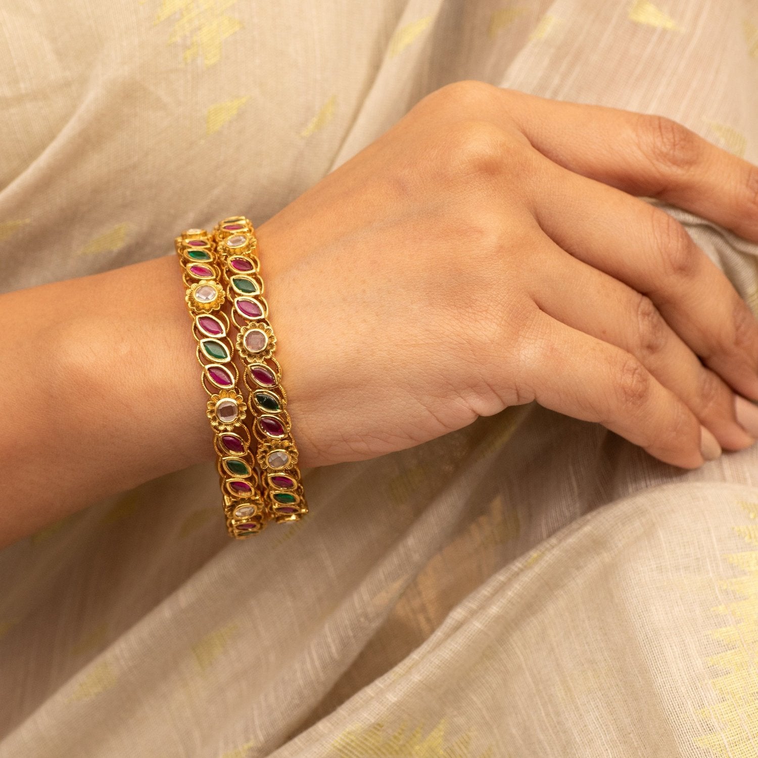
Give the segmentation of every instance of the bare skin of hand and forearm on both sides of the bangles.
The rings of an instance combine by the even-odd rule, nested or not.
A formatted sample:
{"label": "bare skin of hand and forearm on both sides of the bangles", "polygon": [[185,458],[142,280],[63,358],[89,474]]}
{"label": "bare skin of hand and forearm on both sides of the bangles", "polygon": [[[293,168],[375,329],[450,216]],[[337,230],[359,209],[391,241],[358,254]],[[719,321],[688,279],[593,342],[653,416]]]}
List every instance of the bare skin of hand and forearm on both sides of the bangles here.
{"label": "bare skin of hand and forearm on both sides of the bangles", "polygon": [[[734,401],[758,400],[758,322],[634,196],[758,241],[752,164],[661,117],[479,82],[433,92],[258,227],[301,465],[533,400],[681,468],[703,464],[701,425],[752,444]],[[214,458],[183,295],[168,255],[0,296],[30,387],[0,387],[0,543]]]}

